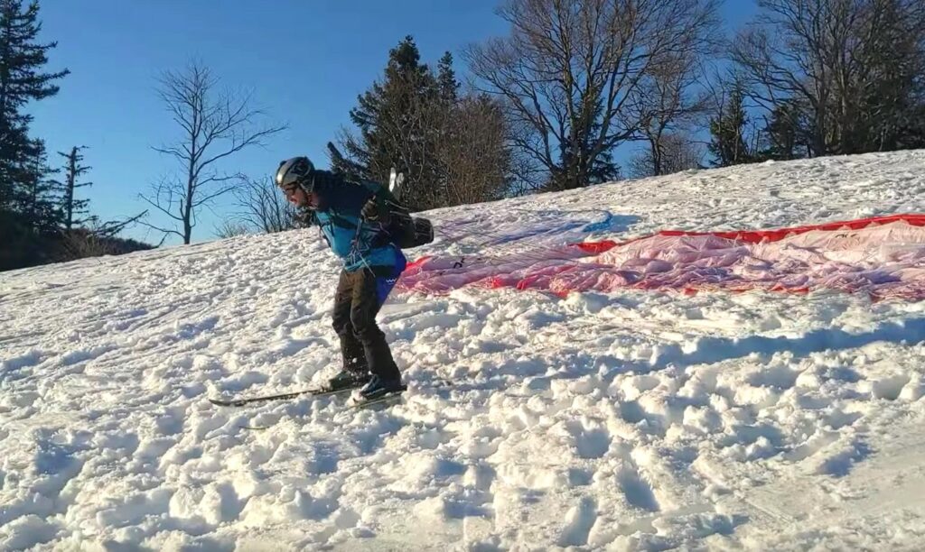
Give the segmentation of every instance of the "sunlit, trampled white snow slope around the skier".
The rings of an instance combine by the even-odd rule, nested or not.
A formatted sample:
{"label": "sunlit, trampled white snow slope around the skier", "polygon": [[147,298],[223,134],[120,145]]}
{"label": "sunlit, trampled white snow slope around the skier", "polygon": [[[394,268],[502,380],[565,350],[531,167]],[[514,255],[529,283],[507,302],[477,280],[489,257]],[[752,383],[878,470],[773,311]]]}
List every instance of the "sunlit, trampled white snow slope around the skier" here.
{"label": "sunlit, trampled white snow slope around the skier", "polygon": [[[899,212],[925,151],[438,210],[409,253]],[[379,320],[404,402],[207,401],[333,373],[337,274],[315,229],[0,274],[0,550],[925,542],[923,302],[403,292]]]}

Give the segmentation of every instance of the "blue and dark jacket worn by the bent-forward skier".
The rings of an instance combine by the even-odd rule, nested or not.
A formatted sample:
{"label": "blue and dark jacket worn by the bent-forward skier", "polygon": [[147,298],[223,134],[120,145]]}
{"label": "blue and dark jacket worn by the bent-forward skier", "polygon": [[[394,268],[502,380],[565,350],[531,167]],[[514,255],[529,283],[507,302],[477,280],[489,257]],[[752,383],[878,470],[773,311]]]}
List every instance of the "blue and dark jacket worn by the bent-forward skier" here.
{"label": "blue and dark jacket worn by the bent-forward skier", "polygon": [[386,210],[385,188],[351,182],[326,171],[315,171],[312,177],[319,199],[312,221],[321,228],[344,270],[368,267],[377,276],[398,276],[407,262],[401,249],[391,243],[381,223],[362,221],[360,216],[366,201],[373,197]]}

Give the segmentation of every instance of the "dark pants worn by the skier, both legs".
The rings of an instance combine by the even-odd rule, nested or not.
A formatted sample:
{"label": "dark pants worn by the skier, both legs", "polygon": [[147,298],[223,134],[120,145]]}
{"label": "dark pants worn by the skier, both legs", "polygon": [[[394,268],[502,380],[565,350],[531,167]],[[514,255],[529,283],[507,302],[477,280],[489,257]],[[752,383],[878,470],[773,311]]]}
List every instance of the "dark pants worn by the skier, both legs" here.
{"label": "dark pants worn by the skier, both legs", "polygon": [[397,279],[388,269],[341,270],[332,318],[346,369],[368,370],[383,379],[401,378],[386,336],[376,325],[376,314]]}

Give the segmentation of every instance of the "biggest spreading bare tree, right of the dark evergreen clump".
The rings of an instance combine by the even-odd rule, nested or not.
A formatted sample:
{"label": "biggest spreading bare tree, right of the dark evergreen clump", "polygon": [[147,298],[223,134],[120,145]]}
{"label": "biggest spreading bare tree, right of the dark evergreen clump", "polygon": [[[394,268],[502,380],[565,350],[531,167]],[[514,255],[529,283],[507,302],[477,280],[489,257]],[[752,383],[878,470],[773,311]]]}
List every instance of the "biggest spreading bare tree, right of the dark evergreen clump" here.
{"label": "biggest spreading bare tree, right of the dark evergreen clump", "polygon": [[644,79],[707,40],[716,13],[716,0],[508,0],[512,35],[466,58],[476,86],[511,105],[516,146],[561,187],[586,186],[642,126],[626,115]]}

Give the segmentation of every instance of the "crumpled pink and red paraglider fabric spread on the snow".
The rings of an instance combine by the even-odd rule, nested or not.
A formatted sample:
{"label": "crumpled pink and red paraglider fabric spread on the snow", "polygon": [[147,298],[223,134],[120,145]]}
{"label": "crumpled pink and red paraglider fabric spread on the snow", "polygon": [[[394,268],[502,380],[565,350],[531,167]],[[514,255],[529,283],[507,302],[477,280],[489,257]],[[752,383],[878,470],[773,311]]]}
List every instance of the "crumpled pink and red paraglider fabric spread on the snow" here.
{"label": "crumpled pink and red paraglider fabric spread on the snow", "polygon": [[831,289],[874,299],[925,299],[925,215],[736,232],[662,231],[629,242],[584,242],[514,256],[429,257],[399,289],[463,286],[566,295],[621,289],[807,293]]}

